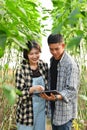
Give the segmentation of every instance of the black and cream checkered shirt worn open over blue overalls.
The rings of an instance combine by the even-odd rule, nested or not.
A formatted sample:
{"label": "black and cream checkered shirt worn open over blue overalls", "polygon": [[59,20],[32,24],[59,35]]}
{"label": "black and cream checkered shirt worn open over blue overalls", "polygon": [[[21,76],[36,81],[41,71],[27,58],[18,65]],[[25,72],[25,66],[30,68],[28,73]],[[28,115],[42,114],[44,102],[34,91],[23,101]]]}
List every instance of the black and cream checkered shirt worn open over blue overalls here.
{"label": "black and cream checkered shirt worn open over blue overalls", "polygon": [[[43,76],[45,89],[47,89],[48,65],[39,60],[38,68]],[[18,97],[16,109],[17,122],[20,124],[33,125],[32,96],[29,95],[30,87],[32,87],[32,70],[29,63],[26,62],[16,70],[16,88],[22,92],[22,96]]]}

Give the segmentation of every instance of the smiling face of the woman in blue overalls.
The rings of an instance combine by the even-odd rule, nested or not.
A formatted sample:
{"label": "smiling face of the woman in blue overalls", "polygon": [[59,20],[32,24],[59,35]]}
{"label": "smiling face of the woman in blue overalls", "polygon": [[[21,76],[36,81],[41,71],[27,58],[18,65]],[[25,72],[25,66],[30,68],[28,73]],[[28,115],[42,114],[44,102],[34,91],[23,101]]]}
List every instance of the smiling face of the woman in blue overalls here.
{"label": "smiling face of the woman in blue overalls", "polygon": [[28,53],[28,59],[30,64],[37,64],[40,58],[40,51],[36,48],[32,48],[32,50]]}

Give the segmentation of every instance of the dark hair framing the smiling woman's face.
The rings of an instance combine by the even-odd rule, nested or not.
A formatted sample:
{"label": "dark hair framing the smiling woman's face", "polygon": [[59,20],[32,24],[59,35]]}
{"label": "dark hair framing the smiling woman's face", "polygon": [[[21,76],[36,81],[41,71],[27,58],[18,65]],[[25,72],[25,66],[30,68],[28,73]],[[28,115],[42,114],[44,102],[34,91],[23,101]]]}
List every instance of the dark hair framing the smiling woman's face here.
{"label": "dark hair framing the smiling woman's face", "polygon": [[40,45],[36,43],[35,41],[28,41],[26,45],[27,45],[27,49],[24,49],[23,51],[23,58],[27,60],[28,60],[28,53],[32,50],[32,48],[36,48],[39,50],[39,52],[41,52]]}

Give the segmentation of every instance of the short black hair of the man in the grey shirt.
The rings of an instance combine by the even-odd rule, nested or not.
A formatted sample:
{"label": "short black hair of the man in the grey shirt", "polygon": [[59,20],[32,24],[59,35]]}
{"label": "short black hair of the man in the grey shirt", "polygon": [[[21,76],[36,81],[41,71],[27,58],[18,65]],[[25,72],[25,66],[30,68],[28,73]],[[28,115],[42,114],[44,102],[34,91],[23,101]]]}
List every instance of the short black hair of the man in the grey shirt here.
{"label": "short black hair of the man in the grey shirt", "polygon": [[63,42],[63,36],[61,34],[50,34],[47,39],[48,45],[52,43],[61,43]]}

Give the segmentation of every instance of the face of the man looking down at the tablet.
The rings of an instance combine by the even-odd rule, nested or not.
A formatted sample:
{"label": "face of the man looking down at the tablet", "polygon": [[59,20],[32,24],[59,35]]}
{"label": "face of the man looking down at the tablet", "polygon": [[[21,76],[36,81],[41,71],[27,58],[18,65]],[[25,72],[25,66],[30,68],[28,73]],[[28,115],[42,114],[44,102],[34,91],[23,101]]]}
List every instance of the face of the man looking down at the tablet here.
{"label": "face of the man looking down at the tablet", "polygon": [[64,52],[65,44],[64,43],[52,43],[49,44],[49,49],[51,54],[56,60],[59,60]]}

